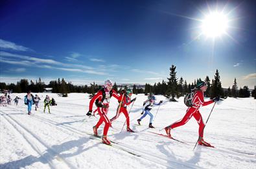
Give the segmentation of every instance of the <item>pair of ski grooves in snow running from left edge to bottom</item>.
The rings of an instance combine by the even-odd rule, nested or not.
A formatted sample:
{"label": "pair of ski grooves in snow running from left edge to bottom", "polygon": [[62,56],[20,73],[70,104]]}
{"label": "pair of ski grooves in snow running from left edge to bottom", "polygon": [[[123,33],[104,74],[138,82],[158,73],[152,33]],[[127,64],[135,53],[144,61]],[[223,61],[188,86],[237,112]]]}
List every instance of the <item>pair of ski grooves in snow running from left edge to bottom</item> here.
{"label": "pair of ski grooves in snow running from left edge to bottom", "polygon": [[[55,159],[55,157],[57,157],[58,159],[61,159],[62,162],[64,162],[69,168],[75,168],[75,166],[73,166],[73,164],[69,163],[68,161],[66,161],[62,155],[58,155],[57,152],[55,152],[54,150],[52,150],[52,148],[50,146],[48,146],[46,143],[44,143],[38,136],[36,136],[35,134],[33,134],[32,132],[30,132],[29,129],[27,129],[25,126],[23,126],[21,123],[18,123],[16,121],[16,119],[14,119],[13,117],[10,117],[10,115],[6,114],[5,112],[3,112],[2,110],[0,110],[1,113],[3,113],[3,117],[6,119],[6,121],[8,121],[8,123],[10,123],[17,132],[19,132],[19,134],[23,135],[23,138],[30,144],[30,146],[32,146],[32,148],[41,156],[43,157],[43,152],[41,152],[38,148],[38,146],[34,146],[33,142],[35,141],[31,141],[31,138],[29,138],[26,135],[31,135],[33,139],[36,139],[36,141],[38,143],[40,143],[41,145],[43,145],[45,148],[47,148],[47,152],[49,152],[48,155],[51,156],[51,159],[47,159],[45,157],[43,157],[43,159],[45,159],[46,161],[49,162],[49,165],[51,166],[51,168],[56,168],[55,164],[52,163],[52,160]],[[7,118],[7,117],[9,118]],[[10,121],[13,121],[11,122]],[[17,127],[19,126],[19,127]],[[27,132],[27,134],[24,134],[24,132],[21,132],[21,130],[19,130],[18,128],[22,128],[25,132]]]}

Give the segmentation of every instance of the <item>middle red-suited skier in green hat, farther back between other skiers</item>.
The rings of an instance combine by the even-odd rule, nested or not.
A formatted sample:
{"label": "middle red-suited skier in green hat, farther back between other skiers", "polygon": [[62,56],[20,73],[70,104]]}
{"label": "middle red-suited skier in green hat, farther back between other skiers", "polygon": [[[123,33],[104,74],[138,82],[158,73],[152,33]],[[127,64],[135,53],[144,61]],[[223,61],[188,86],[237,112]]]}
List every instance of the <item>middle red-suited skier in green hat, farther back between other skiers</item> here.
{"label": "middle red-suited skier in green hat, farther back between other skiers", "polygon": [[136,100],[136,98],[131,100],[131,97],[132,97],[132,90],[128,89],[122,92],[122,95],[118,99],[119,103],[122,100],[121,107],[119,107],[120,106],[119,104],[119,106],[117,107],[117,114],[112,119],[110,119],[110,121],[112,122],[113,120],[117,119],[121,113],[123,113],[126,117],[127,132],[134,132],[134,130],[130,128],[130,119],[129,119],[128,112],[126,110],[126,106],[130,105],[132,102]]}

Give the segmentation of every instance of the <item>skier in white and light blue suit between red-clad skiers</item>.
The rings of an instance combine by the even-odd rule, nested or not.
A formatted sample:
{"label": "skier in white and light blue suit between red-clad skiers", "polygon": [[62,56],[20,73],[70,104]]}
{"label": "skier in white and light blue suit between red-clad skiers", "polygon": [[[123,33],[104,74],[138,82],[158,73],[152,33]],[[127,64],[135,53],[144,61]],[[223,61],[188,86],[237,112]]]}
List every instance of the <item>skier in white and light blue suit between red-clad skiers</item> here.
{"label": "skier in white and light blue suit between red-clad skiers", "polygon": [[150,123],[148,125],[149,128],[154,128],[154,126],[152,126],[152,121],[153,121],[153,115],[150,113],[150,110],[152,109],[152,107],[154,105],[160,105],[161,103],[163,103],[163,101],[160,101],[159,103],[155,103],[156,101],[156,97],[152,94],[148,95],[148,99],[144,102],[143,104],[143,110],[145,111],[145,114],[143,114],[143,116],[141,116],[141,118],[137,119],[137,122],[139,125],[141,125],[141,120],[146,117],[146,115],[150,115]]}

